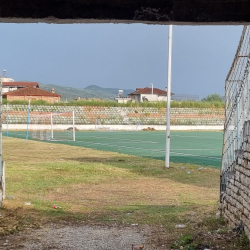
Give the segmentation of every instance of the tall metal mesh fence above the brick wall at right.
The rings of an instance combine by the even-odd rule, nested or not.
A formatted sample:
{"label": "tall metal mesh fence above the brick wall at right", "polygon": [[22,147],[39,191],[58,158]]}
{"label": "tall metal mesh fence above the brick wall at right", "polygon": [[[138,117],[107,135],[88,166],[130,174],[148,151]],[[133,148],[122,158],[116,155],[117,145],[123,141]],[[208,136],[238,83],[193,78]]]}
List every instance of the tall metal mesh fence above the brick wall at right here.
{"label": "tall metal mesh fence above the brick wall at right", "polygon": [[221,188],[236,164],[244,142],[243,126],[250,120],[250,26],[244,26],[232,66],[225,82],[225,128],[221,166]]}

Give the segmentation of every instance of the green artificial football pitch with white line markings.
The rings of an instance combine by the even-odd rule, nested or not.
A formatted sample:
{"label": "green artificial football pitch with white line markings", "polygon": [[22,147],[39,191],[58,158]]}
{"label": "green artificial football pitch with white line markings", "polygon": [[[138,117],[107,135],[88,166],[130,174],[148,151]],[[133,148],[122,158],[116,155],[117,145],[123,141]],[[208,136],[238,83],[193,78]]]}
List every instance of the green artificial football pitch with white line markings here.
{"label": "green artificial football pitch with white line markings", "polygon": [[[26,132],[9,131],[8,136],[25,139]],[[221,165],[222,139],[223,132],[172,131],[170,162],[219,168]],[[29,140],[33,139],[29,138]],[[165,160],[166,132],[76,131],[76,141],[50,141],[50,143]]]}

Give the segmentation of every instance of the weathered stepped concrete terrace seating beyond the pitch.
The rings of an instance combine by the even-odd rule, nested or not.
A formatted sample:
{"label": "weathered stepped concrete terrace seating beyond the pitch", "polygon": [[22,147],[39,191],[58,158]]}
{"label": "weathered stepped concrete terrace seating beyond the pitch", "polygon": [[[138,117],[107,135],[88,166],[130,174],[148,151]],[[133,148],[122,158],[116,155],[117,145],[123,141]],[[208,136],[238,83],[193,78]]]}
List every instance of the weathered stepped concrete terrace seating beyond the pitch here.
{"label": "weathered stepped concrete terrace seating beyond the pitch", "polygon": [[[7,105],[3,105],[2,122],[6,123]],[[28,105],[9,105],[9,123],[27,123]],[[50,112],[72,112],[75,124],[166,124],[166,109],[150,107],[92,107],[92,106],[46,106],[31,105],[30,115]],[[31,118],[32,119],[32,118]],[[55,124],[71,124],[71,115],[54,117]],[[172,108],[172,125],[223,125],[224,109]]]}

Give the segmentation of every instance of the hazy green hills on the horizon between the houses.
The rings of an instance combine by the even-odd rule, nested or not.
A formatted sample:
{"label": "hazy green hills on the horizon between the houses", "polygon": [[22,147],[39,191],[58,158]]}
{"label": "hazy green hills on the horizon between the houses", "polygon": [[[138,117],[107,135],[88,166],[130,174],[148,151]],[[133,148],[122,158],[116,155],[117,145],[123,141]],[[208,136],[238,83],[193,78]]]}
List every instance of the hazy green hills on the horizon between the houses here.
{"label": "hazy green hills on the horizon between the houses", "polygon": [[[64,87],[54,84],[43,84],[39,83],[41,89],[51,91],[53,88],[55,92],[62,96],[61,100],[74,100],[75,98],[101,98],[101,99],[114,99],[118,95],[118,90],[116,88],[102,88],[97,85],[90,85],[86,88],[72,88]],[[124,89],[124,96],[129,93],[134,92],[133,89]]]}

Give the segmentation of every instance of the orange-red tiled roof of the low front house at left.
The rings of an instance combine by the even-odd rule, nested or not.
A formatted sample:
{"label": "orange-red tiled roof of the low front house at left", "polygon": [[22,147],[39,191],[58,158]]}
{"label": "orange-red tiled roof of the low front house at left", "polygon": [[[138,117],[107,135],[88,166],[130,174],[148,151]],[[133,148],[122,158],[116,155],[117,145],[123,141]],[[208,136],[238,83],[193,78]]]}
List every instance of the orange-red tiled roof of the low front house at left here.
{"label": "orange-red tiled roof of the low front house at left", "polygon": [[52,96],[52,97],[60,96],[61,97],[61,95],[51,93],[43,89],[34,88],[32,86],[4,93],[3,97],[6,97],[7,95],[8,96],[12,95],[12,96]]}

